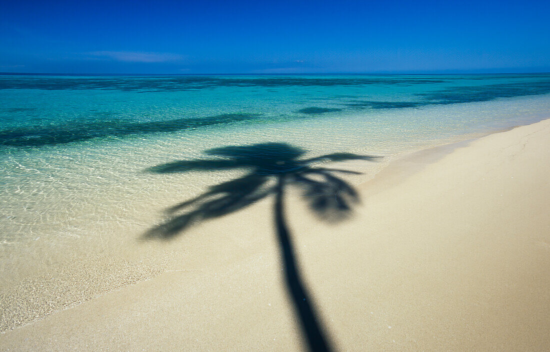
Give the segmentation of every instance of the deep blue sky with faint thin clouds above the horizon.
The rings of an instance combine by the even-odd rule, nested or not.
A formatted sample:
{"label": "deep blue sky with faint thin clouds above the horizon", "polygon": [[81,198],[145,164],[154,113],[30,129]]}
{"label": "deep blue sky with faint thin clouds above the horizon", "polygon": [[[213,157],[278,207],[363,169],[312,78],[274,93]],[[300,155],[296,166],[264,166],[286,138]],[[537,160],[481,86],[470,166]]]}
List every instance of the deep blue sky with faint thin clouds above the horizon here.
{"label": "deep blue sky with faint thin clouds above the horizon", "polygon": [[550,71],[550,1],[11,1],[0,72]]}

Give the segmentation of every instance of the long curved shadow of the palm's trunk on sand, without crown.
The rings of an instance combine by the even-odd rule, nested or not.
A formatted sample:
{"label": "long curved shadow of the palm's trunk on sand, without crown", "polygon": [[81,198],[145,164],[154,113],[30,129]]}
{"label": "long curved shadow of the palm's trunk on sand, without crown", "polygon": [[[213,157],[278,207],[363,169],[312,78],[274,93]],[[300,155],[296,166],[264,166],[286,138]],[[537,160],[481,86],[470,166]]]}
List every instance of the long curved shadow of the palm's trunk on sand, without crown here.
{"label": "long curved shadow of the palm's trunk on sand, without crown", "polygon": [[283,215],[283,188],[284,175],[280,175],[277,181],[275,195],[275,226],[277,236],[283,254],[283,266],[285,272],[285,281],[290,290],[290,297],[293,300],[294,308],[298,312],[301,327],[307,340],[310,351],[329,352],[332,351],[327,338],[324,336],[320,322],[310,302],[311,299],[304,287],[298,266],[292,241]]}

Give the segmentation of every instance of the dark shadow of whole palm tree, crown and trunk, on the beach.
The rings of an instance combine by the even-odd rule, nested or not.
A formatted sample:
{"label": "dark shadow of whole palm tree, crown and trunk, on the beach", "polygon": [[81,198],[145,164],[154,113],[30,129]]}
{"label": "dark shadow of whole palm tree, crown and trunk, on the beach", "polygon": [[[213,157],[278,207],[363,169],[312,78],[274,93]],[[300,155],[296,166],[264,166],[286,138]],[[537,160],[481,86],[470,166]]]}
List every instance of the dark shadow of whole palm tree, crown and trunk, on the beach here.
{"label": "dark shadow of whole palm tree, crown and trunk, on the beach", "polygon": [[274,219],[283,256],[285,281],[298,312],[307,345],[311,351],[331,351],[296,264],[296,255],[284,219],[284,191],[287,185],[297,186],[307,196],[310,208],[322,219],[343,219],[351,211],[351,206],[358,201],[358,197],[353,186],[336,175],[360,172],[315,165],[323,161],[372,160],[378,157],[334,153],[301,159],[306,151],[286,143],[228,146],[210,149],[205,153],[216,158],[179,160],[153,166],[149,171],[168,174],[245,169],[248,172],[242,177],[212,186],[196,198],[172,206],[167,210],[169,218],[147,231],[145,237],[172,238],[197,222],[233,213],[274,195]]}

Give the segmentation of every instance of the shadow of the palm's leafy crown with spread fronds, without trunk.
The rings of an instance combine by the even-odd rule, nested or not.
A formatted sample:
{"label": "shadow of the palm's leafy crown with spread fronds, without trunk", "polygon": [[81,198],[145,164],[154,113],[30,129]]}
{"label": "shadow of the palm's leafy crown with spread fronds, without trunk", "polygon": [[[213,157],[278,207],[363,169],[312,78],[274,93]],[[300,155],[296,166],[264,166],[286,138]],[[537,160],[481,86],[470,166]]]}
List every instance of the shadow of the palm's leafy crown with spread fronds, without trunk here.
{"label": "shadow of the palm's leafy crown with spread fronds, without trunk", "polygon": [[[327,169],[315,166],[324,161],[372,160],[372,155],[333,153],[302,159],[306,150],[287,143],[260,143],[249,146],[227,146],[206,150],[208,159],[179,160],[153,166],[151,172],[167,174],[188,171],[245,169],[244,176],[211,186],[196,198],[172,206],[171,215],[160,225],[146,233],[146,237],[171,238],[198,221],[223,216],[243,209],[258,200],[275,194],[278,187],[270,186],[276,179],[283,185],[298,186],[309,201],[310,208],[322,219],[334,221],[351,210],[357,202],[357,193],[348,182],[334,174],[360,174],[360,172]],[[179,211],[182,214],[176,215]]]}

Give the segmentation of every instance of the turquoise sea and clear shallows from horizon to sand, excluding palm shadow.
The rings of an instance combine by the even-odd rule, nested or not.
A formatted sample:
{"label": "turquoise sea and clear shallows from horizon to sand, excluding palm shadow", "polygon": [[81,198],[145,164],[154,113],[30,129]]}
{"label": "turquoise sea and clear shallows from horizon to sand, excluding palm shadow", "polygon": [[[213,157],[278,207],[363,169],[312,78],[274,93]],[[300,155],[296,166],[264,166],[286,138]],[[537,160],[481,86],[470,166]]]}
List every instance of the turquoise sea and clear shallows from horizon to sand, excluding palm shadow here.
{"label": "turquoise sea and clear shallows from horizon to sand, excluding palm shadow", "polygon": [[0,75],[0,277],[38,275],[69,258],[64,246],[138,238],[156,212],[228,177],[147,167],[209,148],[387,157],[549,113],[550,74]]}

